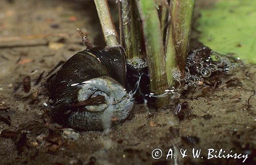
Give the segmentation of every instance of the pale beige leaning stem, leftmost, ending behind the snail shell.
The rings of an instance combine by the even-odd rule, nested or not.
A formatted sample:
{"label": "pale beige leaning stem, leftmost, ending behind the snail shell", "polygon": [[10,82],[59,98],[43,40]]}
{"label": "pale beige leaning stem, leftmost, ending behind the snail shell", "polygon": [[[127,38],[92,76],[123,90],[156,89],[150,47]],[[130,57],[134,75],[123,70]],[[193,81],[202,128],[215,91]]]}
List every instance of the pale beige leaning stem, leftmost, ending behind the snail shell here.
{"label": "pale beige leaning stem, leftmost, ending behind the snail shell", "polygon": [[94,0],[102,32],[107,46],[117,46],[118,36],[110,13],[107,0]]}

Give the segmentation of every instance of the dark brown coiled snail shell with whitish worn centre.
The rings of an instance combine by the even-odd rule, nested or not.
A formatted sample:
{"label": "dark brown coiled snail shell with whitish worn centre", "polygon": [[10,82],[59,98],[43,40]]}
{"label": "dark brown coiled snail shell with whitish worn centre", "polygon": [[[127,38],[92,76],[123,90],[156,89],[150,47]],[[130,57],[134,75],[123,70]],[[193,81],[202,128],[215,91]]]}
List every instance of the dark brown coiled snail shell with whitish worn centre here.
{"label": "dark brown coiled snail shell with whitish worn centre", "polygon": [[126,119],[132,92],[124,89],[121,47],[92,48],[67,60],[49,83],[53,119],[78,130],[103,130]]}

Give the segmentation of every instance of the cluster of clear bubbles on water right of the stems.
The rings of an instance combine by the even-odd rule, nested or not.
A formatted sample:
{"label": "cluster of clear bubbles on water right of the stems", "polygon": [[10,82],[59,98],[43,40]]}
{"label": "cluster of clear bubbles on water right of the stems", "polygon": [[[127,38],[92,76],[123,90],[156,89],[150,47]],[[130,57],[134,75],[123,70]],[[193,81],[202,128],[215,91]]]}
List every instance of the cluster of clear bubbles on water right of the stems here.
{"label": "cluster of clear bubbles on water right of the stems", "polygon": [[[202,50],[204,51],[202,52]],[[236,63],[237,61],[234,61],[233,57],[222,56],[209,50],[210,49],[207,48],[207,46],[204,46],[190,52],[187,57],[184,78],[181,79],[180,70],[175,68],[173,71],[173,78],[179,85],[176,88],[166,89],[165,92],[173,90],[177,93],[181,91],[181,89],[187,90],[189,86],[202,84],[204,82],[203,78],[210,77],[214,72],[230,74],[233,68],[239,66],[239,63]],[[181,88],[182,82],[185,84]]]}

